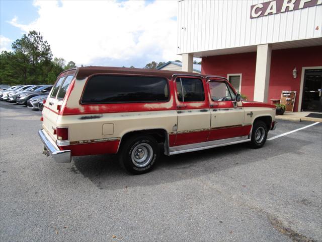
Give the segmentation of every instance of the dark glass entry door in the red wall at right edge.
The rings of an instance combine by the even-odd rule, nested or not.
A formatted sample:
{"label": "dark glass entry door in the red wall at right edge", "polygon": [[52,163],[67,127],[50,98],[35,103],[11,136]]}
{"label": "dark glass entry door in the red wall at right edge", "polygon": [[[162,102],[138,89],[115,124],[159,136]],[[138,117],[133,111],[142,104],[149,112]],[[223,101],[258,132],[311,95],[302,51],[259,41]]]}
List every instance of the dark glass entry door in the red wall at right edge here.
{"label": "dark glass entry door in the red wall at right edge", "polygon": [[322,69],[305,70],[302,110],[322,112]]}

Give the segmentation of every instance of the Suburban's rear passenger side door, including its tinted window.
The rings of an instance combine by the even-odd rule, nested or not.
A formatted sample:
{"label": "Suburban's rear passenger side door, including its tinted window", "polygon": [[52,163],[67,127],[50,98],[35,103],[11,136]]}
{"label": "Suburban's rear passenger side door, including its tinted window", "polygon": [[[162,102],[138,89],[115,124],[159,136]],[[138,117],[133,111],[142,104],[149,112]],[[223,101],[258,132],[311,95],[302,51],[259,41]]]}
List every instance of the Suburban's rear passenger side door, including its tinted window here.
{"label": "Suburban's rear passenger side door, including its tinted window", "polygon": [[175,83],[178,115],[175,145],[205,142],[210,130],[210,110],[205,79],[178,76]]}

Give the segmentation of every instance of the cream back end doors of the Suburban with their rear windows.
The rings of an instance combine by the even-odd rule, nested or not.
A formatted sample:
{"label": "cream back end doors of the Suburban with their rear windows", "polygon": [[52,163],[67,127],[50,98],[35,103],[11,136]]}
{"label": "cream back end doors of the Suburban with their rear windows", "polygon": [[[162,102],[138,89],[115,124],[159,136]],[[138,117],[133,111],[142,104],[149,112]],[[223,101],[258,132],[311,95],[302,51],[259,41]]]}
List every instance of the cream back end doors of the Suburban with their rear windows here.
{"label": "cream back end doors of the Suburban with their rear windows", "polygon": [[59,111],[63,103],[65,94],[67,92],[67,89],[71,81],[73,80],[74,73],[75,71],[63,73],[58,77],[43,107],[43,128],[47,131],[47,133],[51,136],[51,138],[54,141],[57,138],[54,134],[54,130],[56,129],[56,122],[59,115]]}

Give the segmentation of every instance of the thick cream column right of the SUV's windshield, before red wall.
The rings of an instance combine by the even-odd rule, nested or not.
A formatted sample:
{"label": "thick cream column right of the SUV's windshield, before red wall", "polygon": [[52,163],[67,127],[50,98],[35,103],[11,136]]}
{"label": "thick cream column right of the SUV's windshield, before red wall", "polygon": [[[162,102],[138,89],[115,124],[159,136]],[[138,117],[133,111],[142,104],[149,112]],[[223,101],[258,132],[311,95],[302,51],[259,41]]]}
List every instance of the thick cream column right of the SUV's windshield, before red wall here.
{"label": "thick cream column right of the SUV's windshield, before red wall", "polygon": [[270,84],[272,46],[257,46],[254,101],[267,102]]}

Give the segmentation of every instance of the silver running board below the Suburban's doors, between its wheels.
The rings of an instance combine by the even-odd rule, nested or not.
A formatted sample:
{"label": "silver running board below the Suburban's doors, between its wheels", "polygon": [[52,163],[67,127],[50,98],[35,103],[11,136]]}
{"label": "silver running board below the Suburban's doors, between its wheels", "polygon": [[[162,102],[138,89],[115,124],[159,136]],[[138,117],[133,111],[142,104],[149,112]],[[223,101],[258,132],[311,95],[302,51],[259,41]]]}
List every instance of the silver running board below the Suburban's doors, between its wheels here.
{"label": "silver running board below the Suburban's doors, between its wheels", "polygon": [[169,149],[170,151],[169,155],[176,155],[176,154],[193,152],[198,150],[206,150],[206,149],[211,149],[215,147],[234,145],[234,144],[239,144],[239,143],[244,143],[249,141],[251,141],[249,136],[240,136],[240,137],[234,137],[234,138],[228,138],[228,139],[222,139],[222,140],[213,140],[213,141],[207,141],[207,142],[196,143],[196,144],[172,146]]}

